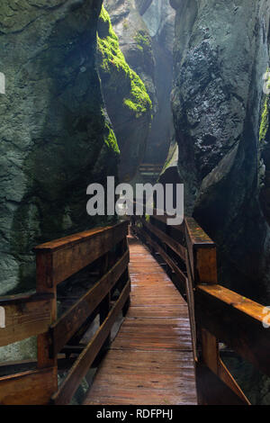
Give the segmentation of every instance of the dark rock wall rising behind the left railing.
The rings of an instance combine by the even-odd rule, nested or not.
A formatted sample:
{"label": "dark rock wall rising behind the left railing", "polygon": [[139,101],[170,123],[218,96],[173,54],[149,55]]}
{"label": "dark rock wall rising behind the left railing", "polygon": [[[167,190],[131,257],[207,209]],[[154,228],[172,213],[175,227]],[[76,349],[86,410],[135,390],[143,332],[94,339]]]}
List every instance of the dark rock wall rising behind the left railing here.
{"label": "dark rock wall rising behind the left railing", "polygon": [[1,2],[1,294],[34,288],[34,245],[97,223],[86,187],[117,172],[94,62],[101,5]]}

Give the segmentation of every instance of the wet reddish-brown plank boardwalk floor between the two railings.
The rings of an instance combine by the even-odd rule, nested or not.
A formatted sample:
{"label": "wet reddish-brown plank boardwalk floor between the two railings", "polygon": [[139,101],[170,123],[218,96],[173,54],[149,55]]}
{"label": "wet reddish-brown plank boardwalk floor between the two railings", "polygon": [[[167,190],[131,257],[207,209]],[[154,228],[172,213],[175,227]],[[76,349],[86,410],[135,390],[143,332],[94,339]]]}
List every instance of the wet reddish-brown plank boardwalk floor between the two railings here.
{"label": "wet reddish-brown plank boardwalk floor between the two railings", "polygon": [[85,405],[196,404],[187,305],[148,248],[129,243],[130,310]]}

